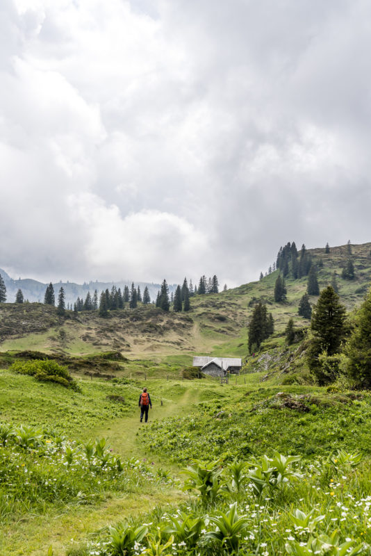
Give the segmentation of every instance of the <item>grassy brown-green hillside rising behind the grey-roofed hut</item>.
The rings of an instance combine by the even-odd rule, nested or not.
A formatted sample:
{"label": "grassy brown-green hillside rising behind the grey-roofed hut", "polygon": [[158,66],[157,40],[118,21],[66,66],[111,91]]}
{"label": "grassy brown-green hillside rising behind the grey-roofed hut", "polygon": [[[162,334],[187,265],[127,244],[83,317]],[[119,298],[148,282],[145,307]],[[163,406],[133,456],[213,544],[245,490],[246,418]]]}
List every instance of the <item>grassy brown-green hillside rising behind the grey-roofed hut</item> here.
{"label": "grassy brown-green hillside rising behind the grey-roofed hut", "polygon": [[[341,271],[349,258],[348,247],[308,250],[318,263],[320,288],[337,273],[340,299],[352,311],[363,300],[371,282],[371,243],[352,245],[355,279],[342,279]],[[94,311],[83,311],[77,317],[67,312],[59,318],[56,309],[44,304],[2,304],[0,309],[0,349],[34,349],[65,354],[89,354],[101,350],[119,350],[126,357],[142,357],[158,361],[176,357],[190,364],[192,354],[247,356],[247,324],[254,304],[261,300],[274,318],[279,338],[289,318],[298,326],[308,321],[297,315],[299,300],[306,291],[307,278],[286,278],[287,301],[274,302],[274,282],[278,271],[260,281],[213,295],[191,298],[188,313],[165,313],[154,306],[110,311],[100,318]],[[311,304],[316,301],[311,296]]]}

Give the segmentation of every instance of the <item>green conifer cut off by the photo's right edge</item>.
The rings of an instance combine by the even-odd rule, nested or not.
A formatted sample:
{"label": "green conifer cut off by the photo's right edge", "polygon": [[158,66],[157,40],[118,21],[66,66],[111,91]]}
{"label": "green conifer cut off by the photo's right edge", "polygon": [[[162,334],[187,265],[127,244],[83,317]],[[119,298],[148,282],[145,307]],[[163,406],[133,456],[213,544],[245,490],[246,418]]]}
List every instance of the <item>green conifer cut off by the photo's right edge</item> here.
{"label": "green conifer cut off by the photo's right edge", "polygon": [[371,389],[371,289],[356,315],[346,347],[347,374],[358,388]]}

